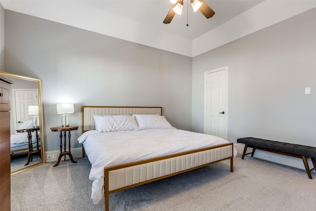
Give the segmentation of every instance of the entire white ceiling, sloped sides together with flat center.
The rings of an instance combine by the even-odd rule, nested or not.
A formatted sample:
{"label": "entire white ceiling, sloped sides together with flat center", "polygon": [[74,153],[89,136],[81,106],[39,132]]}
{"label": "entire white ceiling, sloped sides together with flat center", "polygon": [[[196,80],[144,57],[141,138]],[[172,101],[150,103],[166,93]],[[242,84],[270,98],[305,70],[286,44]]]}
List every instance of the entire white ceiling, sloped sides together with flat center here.
{"label": "entire white ceiling, sloped sides together with flat center", "polygon": [[169,0],[0,0],[4,9],[190,57],[316,7],[316,0],[204,1],[212,18],[185,0],[182,15],[163,24]]}

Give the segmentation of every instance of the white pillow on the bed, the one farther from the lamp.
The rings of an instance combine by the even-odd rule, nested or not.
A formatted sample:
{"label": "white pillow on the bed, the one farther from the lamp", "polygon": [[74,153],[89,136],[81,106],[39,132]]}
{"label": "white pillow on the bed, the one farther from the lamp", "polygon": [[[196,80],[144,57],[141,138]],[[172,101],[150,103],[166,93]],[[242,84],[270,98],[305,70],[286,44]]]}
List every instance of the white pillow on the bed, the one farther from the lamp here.
{"label": "white pillow on the bed, the one farther from the lamp", "polygon": [[164,116],[133,114],[139,129],[175,129]]}

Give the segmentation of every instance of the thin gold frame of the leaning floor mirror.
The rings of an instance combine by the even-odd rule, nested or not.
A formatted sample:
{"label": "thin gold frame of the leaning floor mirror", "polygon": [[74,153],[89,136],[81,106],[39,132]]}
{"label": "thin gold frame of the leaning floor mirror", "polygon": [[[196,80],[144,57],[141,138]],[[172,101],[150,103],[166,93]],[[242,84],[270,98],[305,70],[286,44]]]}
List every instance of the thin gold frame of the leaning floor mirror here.
{"label": "thin gold frame of the leaning floor mirror", "polygon": [[[44,147],[44,127],[43,127],[43,103],[42,103],[42,91],[41,91],[41,80],[40,79],[34,79],[26,76],[20,76],[12,73],[6,73],[6,72],[0,72],[1,76],[4,77],[11,77],[11,78],[16,78],[16,79],[22,79],[22,80],[27,80],[27,81],[32,81],[32,82],[37,82],[38,83],[38,94],[39,94],[39,116],[40,116],[40,154],[41,154],[41,162],[36,163],[33,165],[29,165],[25,168],[15,170],[11,172],[11,175],[19,173],[24,170],[32,169],[34,167],[40,166],[45,163],[45,147]],[[12,100],[12,99],[11,99]]]}

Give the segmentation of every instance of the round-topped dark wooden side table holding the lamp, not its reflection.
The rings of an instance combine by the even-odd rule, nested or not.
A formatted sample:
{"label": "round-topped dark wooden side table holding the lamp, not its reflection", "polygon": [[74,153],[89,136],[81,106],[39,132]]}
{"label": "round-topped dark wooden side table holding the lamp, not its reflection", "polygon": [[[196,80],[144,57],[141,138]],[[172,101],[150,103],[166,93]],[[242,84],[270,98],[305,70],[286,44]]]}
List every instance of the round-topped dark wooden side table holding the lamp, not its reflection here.
{"label": "round-topped dark wooden side table holding the lamp, not its reflection", "polygon": [[[70,131],[71,130],[77,130],[78,129],[78,126],[69,126],[69,127],[51,127],[50,128],[51,131],[53,132],[57,132],[59,131],[60,132],[60,154],[58,156],[58,161],[57,163],[53,166],[53,167],[57,167],[61,158],[63,156],[65,156],[65,160],[66,160],[66,155],[68,155],[70,157],[70,160],[73,162],[73,163],[77,163],[77,161],[75,161],[73,159],[73,155],[71,154],[70,152]],[[63,143],[62,143],[62,139],[63,139],[63,132],[64,131],[64,152],[63,152]],[[68,151],[66,151],[66,131],[68,131]]]}

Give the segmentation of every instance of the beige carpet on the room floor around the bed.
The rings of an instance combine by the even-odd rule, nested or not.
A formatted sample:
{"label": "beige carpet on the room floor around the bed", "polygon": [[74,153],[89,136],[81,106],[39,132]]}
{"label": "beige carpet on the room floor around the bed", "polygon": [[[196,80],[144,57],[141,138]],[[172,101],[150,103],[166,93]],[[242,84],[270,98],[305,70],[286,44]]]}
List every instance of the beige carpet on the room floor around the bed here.
{"label": "beige carpet on the room floor around the bed", "polygon": [[[90,200],[90,164],[46,163],[11,177],[12,211],[103,211]],[[112,211],[315,211],[316,173],[240,155],[110,195]]]}

